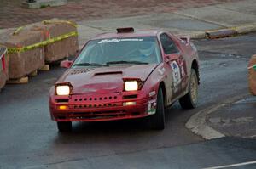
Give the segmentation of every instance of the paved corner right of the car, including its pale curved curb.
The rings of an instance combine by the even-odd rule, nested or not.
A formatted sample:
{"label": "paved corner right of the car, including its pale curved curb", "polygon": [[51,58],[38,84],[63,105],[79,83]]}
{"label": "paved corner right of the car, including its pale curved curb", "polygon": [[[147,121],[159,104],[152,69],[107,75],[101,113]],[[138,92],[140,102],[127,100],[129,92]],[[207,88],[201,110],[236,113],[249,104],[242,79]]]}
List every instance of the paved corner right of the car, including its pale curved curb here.
{"label": "paved corner right of the car, including its pale curved curb", "polygon": [[256,96],[237,96],[192,115],[186,127],[205,139],[256,138],[255,108]]}

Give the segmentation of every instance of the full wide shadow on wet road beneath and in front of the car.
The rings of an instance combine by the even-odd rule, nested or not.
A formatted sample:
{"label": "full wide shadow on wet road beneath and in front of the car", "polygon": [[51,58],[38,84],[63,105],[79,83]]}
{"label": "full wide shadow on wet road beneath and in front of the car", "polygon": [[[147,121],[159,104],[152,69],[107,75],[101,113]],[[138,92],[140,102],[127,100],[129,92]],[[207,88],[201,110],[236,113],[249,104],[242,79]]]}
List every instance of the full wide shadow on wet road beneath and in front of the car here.
{"label": "full wide shadow on wet road beneath and in front of the car", "polygon": [[[190,110],[183,110],[179,104],[173,104],[166,110],[166,128],[153,130],[147,126],[147,118],[103,121],[75,122],[72,132],[58,132],[52,142],[54,149],[76,154],[90,151],[90,155],[105,153],[129,153],[143,149],[158,149],[178,144],[201,141],[184,126]],[[72,150],[73,151],[73,150]]]}

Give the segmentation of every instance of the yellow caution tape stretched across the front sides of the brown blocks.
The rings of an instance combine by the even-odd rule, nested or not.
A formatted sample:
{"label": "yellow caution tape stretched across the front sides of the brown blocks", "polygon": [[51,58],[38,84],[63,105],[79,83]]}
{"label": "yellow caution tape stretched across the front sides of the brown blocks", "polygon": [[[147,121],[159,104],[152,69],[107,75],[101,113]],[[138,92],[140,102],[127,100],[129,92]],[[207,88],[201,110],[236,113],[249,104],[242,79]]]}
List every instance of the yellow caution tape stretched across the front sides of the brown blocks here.
{"label": "yellow caution tape stretched across the front sides of the brown blocks", "polygon": [[49,38],[48,40],[46,41],[43,41],[43,42],[37,42],[35,44],[32,44],[32,45],[28,45],[26,47],[21,47],[21,48],[8,48],[8,53],[9,54],[14,54],[14,53],[21,53],[21,52],[26,52],[28,50],[32,50],[34,48],[40,48],[40,47],[44,47],[45,45],[49,45],[50,43],[54,43],[54,42],[57,42],[57,41],[61,41],[63,39],[66,39],[68,37],[75,37],[75,36],[78,36],[78,31],[72,31],[72,32],[69,32],[67,34],[64,34],[64,35],[61,35],[61,36],[58,36],[58,37],[52,37],[52,38]]}

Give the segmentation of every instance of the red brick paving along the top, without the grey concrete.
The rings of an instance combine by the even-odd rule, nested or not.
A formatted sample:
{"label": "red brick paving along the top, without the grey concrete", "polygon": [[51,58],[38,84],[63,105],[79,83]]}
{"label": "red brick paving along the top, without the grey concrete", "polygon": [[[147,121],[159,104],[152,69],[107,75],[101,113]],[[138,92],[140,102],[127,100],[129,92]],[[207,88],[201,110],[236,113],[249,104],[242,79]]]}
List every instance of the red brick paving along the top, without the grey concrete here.
{"label": "red brick paving along the top, without the grey concrete", "polygon": [[76,21],[97,20],[142,14],[170,13],[185,8],[239,2],[239,0],[179,0],[178,2],[176,0],[68,0],[65,6],[26,9],[21,8],[22,1],[26,0],[1,0],[0,29],[18,27],[51,18],[72,19]]}

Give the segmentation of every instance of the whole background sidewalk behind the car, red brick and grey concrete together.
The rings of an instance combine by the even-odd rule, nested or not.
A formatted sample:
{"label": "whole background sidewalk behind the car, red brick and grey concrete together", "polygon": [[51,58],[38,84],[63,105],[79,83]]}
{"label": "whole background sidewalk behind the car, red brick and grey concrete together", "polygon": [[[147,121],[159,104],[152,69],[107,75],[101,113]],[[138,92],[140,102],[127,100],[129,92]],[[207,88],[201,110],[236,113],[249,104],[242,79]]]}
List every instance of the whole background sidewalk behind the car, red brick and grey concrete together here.
{"label": "whole background sidewalk behind the car, red brick and grey concrete together", "polygon": [[96,34],[117,27],[164,28],[175,34],[204,38],[205,31],[241,26],[239,31],[256,31],[255,0],[118,1],[70,0],[65,6],[26,9],[20,0],[3,2],[1,28],[60,18],[79,23],[79,47]]}

